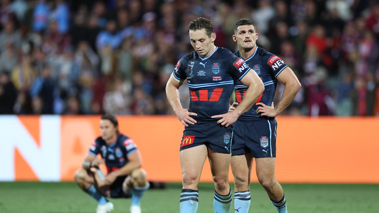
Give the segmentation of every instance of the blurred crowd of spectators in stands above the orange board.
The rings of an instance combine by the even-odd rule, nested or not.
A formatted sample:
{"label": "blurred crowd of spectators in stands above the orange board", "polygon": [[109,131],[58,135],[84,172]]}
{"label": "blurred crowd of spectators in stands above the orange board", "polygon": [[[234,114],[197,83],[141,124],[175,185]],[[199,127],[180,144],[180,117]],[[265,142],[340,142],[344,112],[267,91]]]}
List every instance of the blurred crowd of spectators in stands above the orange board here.
{"label": "blurred crowd of spectators in stands above the orange board", "polygon": [[[172,114],[164,89],[193,51],[187,27],[197,17],[232,52],[235,22],[256,23],[257,45],[302,83],[283,114],[379,115],[379,3],[370,0],[1,0],[0,114]],[[180,92],[188,107],[188,87]]]}

